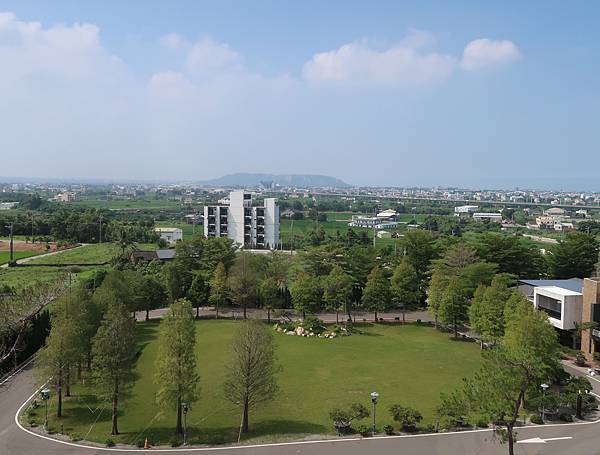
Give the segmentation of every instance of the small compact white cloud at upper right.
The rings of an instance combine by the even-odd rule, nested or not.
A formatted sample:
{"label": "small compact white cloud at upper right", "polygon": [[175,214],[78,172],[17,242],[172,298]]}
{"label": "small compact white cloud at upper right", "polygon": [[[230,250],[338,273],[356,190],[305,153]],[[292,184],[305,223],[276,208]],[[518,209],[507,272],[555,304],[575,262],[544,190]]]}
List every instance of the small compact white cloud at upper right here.
{"label": "small compact white cloud at upper right", "polygon": [[465,46],[461,66],[466,71],[507,65],[521,59],[519,48],[512,41],[487,38],[471,41]]}

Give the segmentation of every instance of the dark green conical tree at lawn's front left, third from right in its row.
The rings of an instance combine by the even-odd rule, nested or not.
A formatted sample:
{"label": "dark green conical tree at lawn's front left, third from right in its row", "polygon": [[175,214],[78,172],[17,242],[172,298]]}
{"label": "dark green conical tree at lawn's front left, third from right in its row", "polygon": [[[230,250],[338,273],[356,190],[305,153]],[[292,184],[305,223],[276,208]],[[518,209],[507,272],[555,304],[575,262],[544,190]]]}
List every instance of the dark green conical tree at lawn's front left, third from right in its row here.
{"label": "dark green conical tree at lawn's front left, third from right in its row", "polygon": [[133,379],[135,322],[127,306],[117,299],[109,305],[94,336],[93,377],[99,394],[112,403],[111,434],[119,434],[119,398]]}

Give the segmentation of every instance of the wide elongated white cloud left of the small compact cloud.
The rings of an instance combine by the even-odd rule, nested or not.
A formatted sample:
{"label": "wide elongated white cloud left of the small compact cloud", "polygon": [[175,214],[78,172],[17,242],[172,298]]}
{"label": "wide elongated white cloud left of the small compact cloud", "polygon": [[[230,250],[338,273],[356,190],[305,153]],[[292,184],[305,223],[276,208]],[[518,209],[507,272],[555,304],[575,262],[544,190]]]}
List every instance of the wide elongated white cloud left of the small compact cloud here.
{"label": "wide elongated white cloud left of the small compact cloud", "polygon": [[428,35],[411,35],[386,50],[376,50],[367,42],[353,42],[339,49],[315,54],[304,64],[303,77],[310,82],[343,82],[351,85],[383,83],[419,85],[450,75],[458,61],[436,52],[420,52],[429,44]]}

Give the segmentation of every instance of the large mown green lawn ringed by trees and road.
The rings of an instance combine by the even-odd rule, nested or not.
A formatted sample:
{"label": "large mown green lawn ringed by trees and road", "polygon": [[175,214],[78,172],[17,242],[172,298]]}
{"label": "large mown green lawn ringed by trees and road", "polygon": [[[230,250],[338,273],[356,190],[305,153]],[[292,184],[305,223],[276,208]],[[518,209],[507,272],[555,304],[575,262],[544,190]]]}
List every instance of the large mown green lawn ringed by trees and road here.
{"label": "large mown green lawn ringed by trees and road", "polygon": [[[231,442],[237,439],[240,414],[223,398],[224,364],[236,325],[233,321],[198,321],[197,356],[201,398],[188,415],[190,440],[195,443]],[[133,443],[148,437],[167,442],[173,434],[174,412],[158,414],[154,401],[154,360],[157,354],[157,322],[138,325],[141,356],[137,380],[121,405],[115,441]],[[280,392],[265,407],[250,414],[252,441],[285,440],[308,434],[332,433],[329,411],[352,402],[370,404],[369,393],[380,393],[378,426],[392,423],[388,407],[400,403],[415,407],[432,423],[440,392],[448,392],[479,366],[480,351],[474,343],[455,342],[448,334],[428,326],[372,326],[362,335],[334,340],[300,338],[275,333],[277,356],[282,366]],[[66,417],[53,417],[50,425],[64,425],[65,432],[104,442],[110,431],[110,406],[77,386],[65,402]],[[38,413],[37,419],[41,419]],[[369,422],[365,421],[365,424]]]}

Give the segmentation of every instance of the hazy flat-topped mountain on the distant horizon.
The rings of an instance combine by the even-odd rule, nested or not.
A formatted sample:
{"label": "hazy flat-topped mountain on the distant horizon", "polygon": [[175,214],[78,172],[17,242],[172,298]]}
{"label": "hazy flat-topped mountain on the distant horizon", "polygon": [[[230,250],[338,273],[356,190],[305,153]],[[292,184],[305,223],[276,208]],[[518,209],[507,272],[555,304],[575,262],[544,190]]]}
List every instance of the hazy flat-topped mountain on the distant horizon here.
{"label": "hazy flat-topped mountain on the distant horizon", "polygon": [[205,185],[215,186],[258,186],[274,183],[280,186],[294,186],[298,188],[334,187],[348,188],[346,182],[328,175],[311,174],[228,174],[213,180],[201,182]]}

